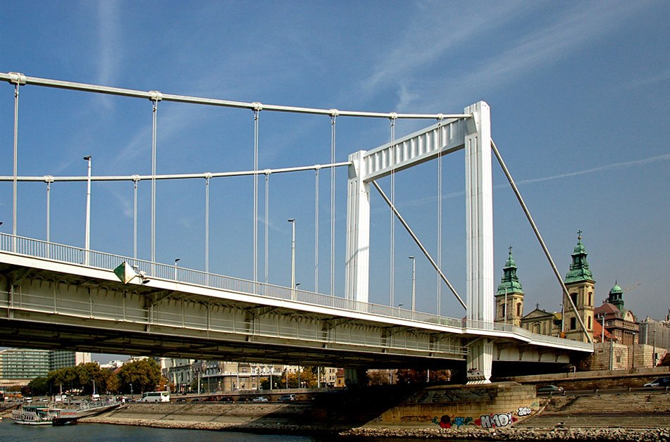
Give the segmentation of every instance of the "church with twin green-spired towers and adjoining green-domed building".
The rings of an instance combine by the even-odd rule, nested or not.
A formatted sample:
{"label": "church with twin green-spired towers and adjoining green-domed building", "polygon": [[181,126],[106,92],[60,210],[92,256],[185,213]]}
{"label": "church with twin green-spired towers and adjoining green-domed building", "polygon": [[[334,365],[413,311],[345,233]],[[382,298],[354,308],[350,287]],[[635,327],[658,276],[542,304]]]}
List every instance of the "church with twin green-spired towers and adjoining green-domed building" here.
{"label": "church with twin green-spired towers and adjoining green-domed building", "polygon": [[[600,307],[594,307],[595,279],[588,267],[587,255],[580,231],[564,284],[586,331],[594,342],[614,341],[623,345],[638,343],[639,323],[633,312],[624,308],[624,291],[618,284],[614,284],[609,297]],[[536,304],[535,310],[523,315],[525,293],[516,270],[510,247],[503,276],[495,293],[495,322],[516,325],[537,334],[587,341],[567,298],[564,298],[560,312],[542,310]]]}

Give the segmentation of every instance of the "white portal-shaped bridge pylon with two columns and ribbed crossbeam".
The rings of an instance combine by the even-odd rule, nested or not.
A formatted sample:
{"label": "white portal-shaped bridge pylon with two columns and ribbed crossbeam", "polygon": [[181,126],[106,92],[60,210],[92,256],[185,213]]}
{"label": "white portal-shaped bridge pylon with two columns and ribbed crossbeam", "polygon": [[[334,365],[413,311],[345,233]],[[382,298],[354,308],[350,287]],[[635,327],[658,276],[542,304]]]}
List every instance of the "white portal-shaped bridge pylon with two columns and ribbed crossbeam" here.
{"label": "white portal-shaped bridge pylon with two columns and ribbed crossbeam", "polygon": [[[479,101],[466,107],[464,114],[469,114],[471,117],[440,121],[371,151],[358,151],[349,156],[351,165],[347,182],[345,272],[345,293],[348,299],[368,302],[371,183],[390,175],[393,171],[410,168],[440,154],[465,149],[467,305],[464,305],[464,308],[467,310],[468,320],[493,322],[490,107],[488,103]],[[423,249],[423,246],[421,248]],[[433,261],[425,249],[423,251]],[[454,291],[440,269],[438,272],[463,305],[458,293]],[[493,344],[489,339],[478,339],[471,343],[468,355],[469,381],[489,382],[492,354]]]}

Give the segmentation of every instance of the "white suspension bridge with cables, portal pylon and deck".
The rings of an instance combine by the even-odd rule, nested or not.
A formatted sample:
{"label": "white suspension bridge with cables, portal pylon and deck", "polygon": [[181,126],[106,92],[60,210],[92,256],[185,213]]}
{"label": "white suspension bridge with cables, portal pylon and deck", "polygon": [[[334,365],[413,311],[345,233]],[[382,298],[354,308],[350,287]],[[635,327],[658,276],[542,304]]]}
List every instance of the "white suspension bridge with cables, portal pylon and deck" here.
{"label": "white suspension bridge with cables, portal pylon and deck", "polygon": [[[537,229],[492,142],[490,109],[484,102],[468,106],[463,113],[450,115],[348,113],[389,118],[392,123],[397,118],[435,118],[438,122],[399,139],[395,139],[395,132],[392,132],[389,143],[370,151],[352,153],[347,163],[335,163],[333,158],[328,165],[314,166],[317,171],[320,168],[334,170],[340,166],[349,170],[345,293],[335,296],[334,272],[331,272],[328,295],[299,290],[294,278],[290,287],[259,282],[256,274],[257,177],[261,173],[267,176],[280,171],[260,171],[256,154],[254,170],[249,172],[254,176],[253,279],[211,273],[207,261],[204,271],[178,267],[176,262],[175,265],[156,262],[156,179],[194,177],[193,174],[156,175],[156,106],[159,101],[173,100],[252,109],[256,121],[254,144],[257,143],[260,110],[328,115],[333,127],[335,119],[347,113],[334,109],[197,99],[156,91],[44,80],[15,73],[0,73],[0,80],[15,87],[14,175],[0,177],[2,181],[13,182],[14,188],[13,233],[0,234],[1,345],[354,369],[461,367],[467,370],[470,382],[488,382],[494,364],[526,368],[528,362],[534,362],[535,367],[567,364],[593,351],[590,342],[532,334],[511,324],[493,322],[492,153],[504,168],[535,232]],[[154,112],[152,174],[148,177],[91,177],[89,168],[88,177],[19,177],[16,169],[18,91],[26,84],[151,100]],[[333,129],[333,144],[334,133]],[[257,149],[257,145],[254,148]],[[396,172],[413,165],[460,150],[465,150],[466,156],[466,301],[442,272],[439,247],[435,260],[397,210],[393,195],[386,196],[376,182],[381,177],[393,177]],[[195,176],[203,177],[209,184],[209,179],[215,175],[227,174]],[[44,180],[49,185],[59,179],[87,180],[89,195],[92,179],[126,179],[135,184],[140,179],[151,179],[151,260],[137,259],[136,252],[131,258],[89,248],[88,216],[84,248],[50,242],[48,229],[47,241],[19,236],[15,215],[18,182]],[[334,179],[331,184],[333,182]],[[383,196],[393,216],[466,310],[464,319],[444,317],[439,311],[438,314],[419,312],[414,305],[411,309],[396,307],[392,293],[390,305],[368,302],[371,187]],[[332,211],[331,227],[334,216]],[[331,245],[333,238],[331,229]],[[542,243],[539,234],[538,239]],[[545,248],[543,243],[542,246]],[[334,265],[332,250],[331,247],[331,268]],[[545,253],[567,294],[546,248]],[[571,303],[569,296],[565,298],[569,300],[566,303]],[[574,309],[574,305],[569,307]]]}

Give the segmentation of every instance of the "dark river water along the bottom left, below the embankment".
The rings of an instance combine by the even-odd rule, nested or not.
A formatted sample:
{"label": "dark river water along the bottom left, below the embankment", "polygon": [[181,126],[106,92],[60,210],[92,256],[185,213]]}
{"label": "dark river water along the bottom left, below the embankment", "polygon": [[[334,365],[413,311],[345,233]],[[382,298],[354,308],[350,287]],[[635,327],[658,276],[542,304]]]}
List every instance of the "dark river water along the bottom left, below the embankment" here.
{"label": "dark river water along the bottom left, below the embankment", "polygon": [[[206,431],[162,429],[150,427],[132,427],[130,425],[110,424],[77,424],[65,427],[51,427],[51,425],[19,425],[12,419],[0,421],[0,441],[19,442],[333,442],[336,436],[292,436],[283,434],[251,434],[236,433],[233,431]],[[349,441],[388,442],[389,439],[364,438],[350,439]],[[347,440],[340,439],[340,440]],[[393,439],[394,442],[425,441],[426,439],[403,438]],[[445,439],[440,439],[448,442]]]}

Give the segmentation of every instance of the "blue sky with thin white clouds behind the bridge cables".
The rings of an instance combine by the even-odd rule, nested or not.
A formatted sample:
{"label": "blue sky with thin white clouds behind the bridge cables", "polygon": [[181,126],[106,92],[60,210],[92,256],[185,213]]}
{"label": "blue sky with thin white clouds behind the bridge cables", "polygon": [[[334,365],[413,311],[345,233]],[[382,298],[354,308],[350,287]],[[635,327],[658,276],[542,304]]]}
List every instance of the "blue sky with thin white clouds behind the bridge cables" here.
{"label": "blue sky with thin white clouds behind the bridge cables", "polygon": [[[559,271],[583,230],[596,300],[615,281],[640,319],[669,304],[670,2],[667,1],[70,1],[0,0],[0,72],[238,101],[342,110],[460,113],[491,106],[492,136]],[[253,113],[159,103],[159,173],[253,167]],[[433,121],[397,122],[396,136]],[[388,120],[338,118],[337,161],[390,139]],[[12,174],[13,87],[0,85],[0,175]],[[19,175],[151,172],[151,103],[22,87]],[[261,112],[259,168],[330,161],[330,119]],[[514,246],[526,312],[558,310],[559,285],[497,163],[495,278]],[[465,295],[464,158],[443,163],[445,274]],[[437,165],[400,172],[396,202],[435,251]],[[336,181],[336,293],[344,290],[345,168]],[[381,182],[389,189],[388,179]],[[330,175],[320,179],[319,291],[329,286]],[[139,258],[149,258],[150,183],[140,182]],[[18,234],[46,237],[46,186],[20,184]],[[252,277],[252,179],[211,182],[210,270]],[[259,184],[259,275],[263,189]],[[269,280],[314,288],[314,172],[271,175]],[[204,180],[159,182],[156,258],[204,268]],[[371,301],[389,302],[390,220],[373,194]],[[0,220],[11,232],[11,183]],[[85,184],[51,188],[51,239],[84,245]],[[132,183],[95,183],[92,248],[132,255]],[[399,225],[395,300],[409,305],[421,256]],[[417,308],[435,311],[436,277],[417,258]],[[302,288],[301,287],[301,288]],[[442,314],[462,317],[442,288]]]}

